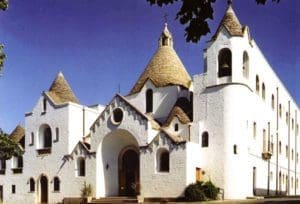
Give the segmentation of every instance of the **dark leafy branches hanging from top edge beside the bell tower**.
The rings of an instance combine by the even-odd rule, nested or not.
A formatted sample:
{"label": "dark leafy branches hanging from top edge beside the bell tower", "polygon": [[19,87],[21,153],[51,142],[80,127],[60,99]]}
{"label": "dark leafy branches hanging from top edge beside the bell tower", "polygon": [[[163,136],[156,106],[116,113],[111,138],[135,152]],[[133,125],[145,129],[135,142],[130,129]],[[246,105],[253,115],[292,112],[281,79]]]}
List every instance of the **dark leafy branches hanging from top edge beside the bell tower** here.
{"label": "dark leafy branches hanging from top edge beside the bell tower", "polygon": [[[168,4],[181,3],[181,8],[176,14],[176,20],[185,25],[185,39],[187,42],[197,43],[201,36],[210,33],[208,20],[213,19],[213,4],[216,0],[146,0],[150,5],[165,6]],[[280,0],[272,0],[279,2]],[[267,0],[255,0],[257,4],[264,5]],[[232,0],[228,0],[232,3]]]}

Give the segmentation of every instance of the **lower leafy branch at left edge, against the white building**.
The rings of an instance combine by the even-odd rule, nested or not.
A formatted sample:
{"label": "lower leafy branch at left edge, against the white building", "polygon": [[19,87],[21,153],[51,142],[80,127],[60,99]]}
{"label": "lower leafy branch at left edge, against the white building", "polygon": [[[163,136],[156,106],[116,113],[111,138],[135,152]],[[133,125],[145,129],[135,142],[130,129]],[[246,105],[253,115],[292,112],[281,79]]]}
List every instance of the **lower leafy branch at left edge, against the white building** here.
{"label": "lower leafy branch at left edge, against the white building", "polygon": [[20,145],[11,140],[7,134],[0,132],[0,159],[10,159],[12,156],[20,156],[23,150]]}

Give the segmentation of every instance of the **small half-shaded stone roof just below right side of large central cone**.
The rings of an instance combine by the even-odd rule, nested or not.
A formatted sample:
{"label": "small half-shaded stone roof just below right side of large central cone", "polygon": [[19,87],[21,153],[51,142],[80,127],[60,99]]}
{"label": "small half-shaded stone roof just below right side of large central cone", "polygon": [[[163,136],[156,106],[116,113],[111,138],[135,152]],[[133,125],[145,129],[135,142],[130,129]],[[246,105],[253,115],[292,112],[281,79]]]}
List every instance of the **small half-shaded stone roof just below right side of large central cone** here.
{"label": "small half-shaded stone roof just below right side of large central cone", "polygon": [[187,124],[192,121],[193,107],[192,104],[186,98],[182,97],[177,99],[164,125],[170,125],[174,117],[177,117],[182,124]]}

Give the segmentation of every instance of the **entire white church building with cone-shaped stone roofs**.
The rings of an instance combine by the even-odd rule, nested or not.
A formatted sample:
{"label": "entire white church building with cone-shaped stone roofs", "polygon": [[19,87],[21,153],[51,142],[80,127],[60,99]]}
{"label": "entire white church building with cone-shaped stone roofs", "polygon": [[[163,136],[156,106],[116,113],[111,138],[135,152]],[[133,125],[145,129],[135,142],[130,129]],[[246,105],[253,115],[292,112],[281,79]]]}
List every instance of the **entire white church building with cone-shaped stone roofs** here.
{"label": "entire white church building with cone-shaped stone roofs", "polygon": [[[167,25],[126,96],[81,105],[62,73],[11,138],[24,154],[0,162],[0,199],[175,198],[211,180],[225,199],[300,194],[300,110],[229,4],[190,76]],[[201,66],[201,65],[199,65]]]}

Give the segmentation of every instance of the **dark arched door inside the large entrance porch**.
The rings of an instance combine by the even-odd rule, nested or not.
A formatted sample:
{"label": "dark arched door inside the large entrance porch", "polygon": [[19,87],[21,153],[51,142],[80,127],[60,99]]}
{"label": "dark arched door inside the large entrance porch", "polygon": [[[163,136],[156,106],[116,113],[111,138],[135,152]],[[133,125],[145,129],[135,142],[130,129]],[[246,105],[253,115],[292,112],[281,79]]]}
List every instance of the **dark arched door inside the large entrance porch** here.
{"label": "dark arched door inside the large entrance porch", "polygon": [[139,184],[139,155],[134,149],[120,153],[119,157],[119,194],[121,196],[138,195]]}

